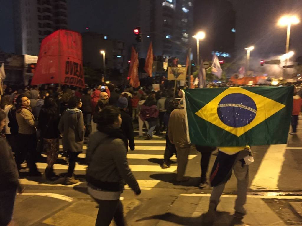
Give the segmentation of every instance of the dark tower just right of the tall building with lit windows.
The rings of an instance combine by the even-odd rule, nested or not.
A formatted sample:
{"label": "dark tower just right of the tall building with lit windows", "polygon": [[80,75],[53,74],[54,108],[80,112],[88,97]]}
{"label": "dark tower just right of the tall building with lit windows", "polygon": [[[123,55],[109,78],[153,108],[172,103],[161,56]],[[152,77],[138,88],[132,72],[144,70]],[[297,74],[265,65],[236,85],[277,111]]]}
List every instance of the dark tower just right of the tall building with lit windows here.
{"label": "dark tower just right of the tall building with lit windows", "polygon": [[[206,33],[200,41],[200,55],[211,60],[212,54],[220,59],[233,58],[235,54],[236,11],[228,0],[198,0],[195,3],[194,31]],[[194,49],[196,52],[196,47]]]}

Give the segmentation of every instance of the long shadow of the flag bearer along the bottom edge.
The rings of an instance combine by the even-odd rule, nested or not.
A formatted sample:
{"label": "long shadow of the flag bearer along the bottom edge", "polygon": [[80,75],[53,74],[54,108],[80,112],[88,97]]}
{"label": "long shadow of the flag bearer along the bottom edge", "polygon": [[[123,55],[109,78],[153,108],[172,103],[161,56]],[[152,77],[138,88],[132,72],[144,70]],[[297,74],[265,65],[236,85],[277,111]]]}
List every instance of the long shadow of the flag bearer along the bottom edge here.
{"label": "long shadow of the flag bearer along the bottom edge", "polygon": [[168,212],[160,215],[141,218],[136,221],[146,221],[152,219],[169,221],[175,224],[190,226],[212,226],[214,224],[219,226],[235,226],[243,224],[243,221],[241,221],[241,219],[234,218],[232,215],[230,215],[229,212],[217,212],[214,218],[211,218],[209,215],[207,215],[207,213],[204,213],[199,217],[182,217]]}

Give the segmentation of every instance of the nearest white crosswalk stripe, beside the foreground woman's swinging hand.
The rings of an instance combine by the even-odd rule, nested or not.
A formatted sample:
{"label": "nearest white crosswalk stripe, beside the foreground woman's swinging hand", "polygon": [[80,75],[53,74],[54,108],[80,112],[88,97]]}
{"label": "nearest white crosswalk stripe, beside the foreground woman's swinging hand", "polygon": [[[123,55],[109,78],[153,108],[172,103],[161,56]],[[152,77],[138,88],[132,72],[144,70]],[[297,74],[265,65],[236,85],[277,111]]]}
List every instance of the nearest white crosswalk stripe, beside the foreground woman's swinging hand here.
{"label": "nearest white crosswalk stripe, beside the foreground woman's swinging hand", "polygon": [[[28,180],[26,178],[22,178],[19,180],[20,184],[23,185],[39,185],[39,186],[50,186],[50,187],[75,187],[79,184],[83,184],[83,182],[79,182],[77,184],[71,184],[71,185],[64,185],[65,178],[60,178],[53,182],[45,181],[45,183],[41,183],[34,180]],[[141,190],[151,190],[153,187],[155,187],[160,180],[137,180],[137,183],[140,185]],[[54,184],[57,183],[57,184]],[[130,189],[128,185],[125,185],[125,189]]]}

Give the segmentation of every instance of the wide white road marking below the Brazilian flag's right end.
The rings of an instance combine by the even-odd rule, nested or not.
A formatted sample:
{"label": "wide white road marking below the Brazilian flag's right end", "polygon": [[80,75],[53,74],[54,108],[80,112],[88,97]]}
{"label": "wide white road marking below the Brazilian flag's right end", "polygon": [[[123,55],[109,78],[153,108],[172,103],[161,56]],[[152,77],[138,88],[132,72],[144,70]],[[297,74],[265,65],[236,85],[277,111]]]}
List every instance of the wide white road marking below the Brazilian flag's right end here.
{"label": "wide white road marking below the Brazilian flag's right end", "polygon": [[250,189],[279,190],[278,179],[282,170],[285,151],[286,144],[269,146],[252,181]]}

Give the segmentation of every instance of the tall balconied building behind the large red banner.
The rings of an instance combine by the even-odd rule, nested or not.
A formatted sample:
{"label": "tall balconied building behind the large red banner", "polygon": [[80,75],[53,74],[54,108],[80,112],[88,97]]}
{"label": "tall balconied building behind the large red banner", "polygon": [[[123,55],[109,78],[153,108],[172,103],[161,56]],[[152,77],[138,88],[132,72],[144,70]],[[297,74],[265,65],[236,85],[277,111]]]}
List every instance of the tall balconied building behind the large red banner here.
{"label": "tall balconied building behind the large red banner", "polygon": [[66,0],[13,0],[15,51],[38,55],[42,39],[67,29]]}

